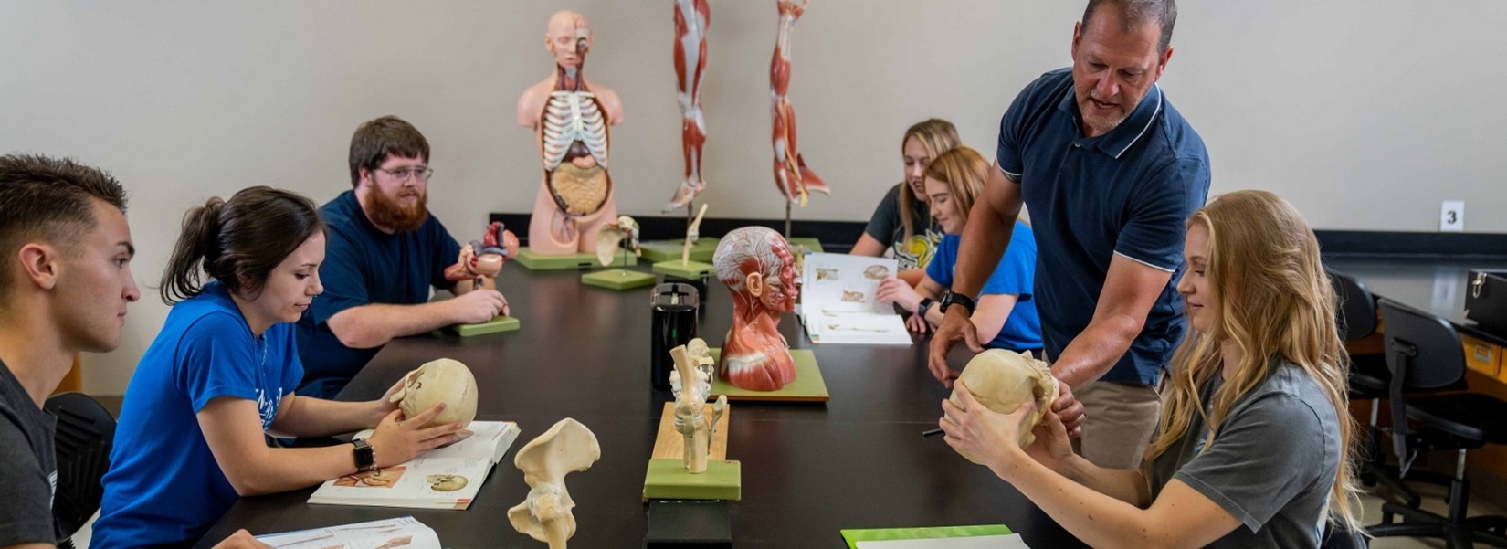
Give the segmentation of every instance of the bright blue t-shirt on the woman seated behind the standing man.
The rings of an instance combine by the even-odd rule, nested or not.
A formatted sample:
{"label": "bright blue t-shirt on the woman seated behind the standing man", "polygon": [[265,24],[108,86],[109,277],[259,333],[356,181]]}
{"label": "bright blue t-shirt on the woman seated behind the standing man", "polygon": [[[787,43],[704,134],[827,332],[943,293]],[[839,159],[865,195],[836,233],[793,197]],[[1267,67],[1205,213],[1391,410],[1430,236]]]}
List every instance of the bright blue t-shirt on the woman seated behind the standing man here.
{"label": "bright blue t-shirt on the woman seated behind the standing man", "polygon": [[[963,238],[955,234],[942,237],[942,244],[927,264],[927,278],[943,288],[952,287],[957,247]],[[978,297],[1016,296],[1016,306],[1010,308],[1005,326],[1001,326],[995,339],[984,342],[984,347],[1013,351],[1041,348],[1041,317],[1037,314],[1035,299],[1031,297],[1035,293],[1034,279],[1035,238],[1029,225],[1016,222],[1016,232],[1010,237],[1005,255],[999,258],[999,265],[989,274],[989,281],[984,281],[984,290],[978,291]]]}

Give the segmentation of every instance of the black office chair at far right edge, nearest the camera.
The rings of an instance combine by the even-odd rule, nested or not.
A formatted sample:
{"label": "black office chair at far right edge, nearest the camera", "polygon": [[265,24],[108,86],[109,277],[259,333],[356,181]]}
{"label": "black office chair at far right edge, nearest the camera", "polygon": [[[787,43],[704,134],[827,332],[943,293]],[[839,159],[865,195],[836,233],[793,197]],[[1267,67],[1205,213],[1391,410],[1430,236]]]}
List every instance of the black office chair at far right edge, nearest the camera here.
{"label": "black office chair at far right edge, nearest the camera", "polygon": [[[1456,449],[1450,483],[1448,516],[1420,508],[1383,504],[1382,523],[1367,528],[1373,537],[1439,537],[1448,547],[1472,547],[1474,541],[1507,547],[1507,517],[1466,517],[1471,483],[1465,478],[1465,452],[1486,443],[1507,443],[1507,403],[1472,392],[1417,395],[1465,379],[1465,345],[1444,318],[1382,300],[1386,323],[1386,365],[1392,409],[1392,452],[1403,478],[1414,459],[1427,449]],[[1406,419],[1403,419],[1406,418]],[[1409,421],[1418,422],[1414,428]],[[1395,522],[1395,517],[1403,522]]]}

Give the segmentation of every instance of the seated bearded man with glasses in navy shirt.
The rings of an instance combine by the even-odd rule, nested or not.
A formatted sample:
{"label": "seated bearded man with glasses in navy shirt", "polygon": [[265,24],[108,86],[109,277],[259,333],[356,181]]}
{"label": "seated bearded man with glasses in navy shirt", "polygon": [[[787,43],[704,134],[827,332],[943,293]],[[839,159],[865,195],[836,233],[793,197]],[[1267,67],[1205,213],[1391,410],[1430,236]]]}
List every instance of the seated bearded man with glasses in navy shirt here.
{"label": "seated bearded man with glasses in navy shirt", "polygon": [[[426,207],[434,170],[417,128],[396,116],[362,124],[350,164],[354,189],[319,207],[324,294],[298,320],[306,397],[335,398],[392,338],[508,314],[497,290],[445,279],[461,247]],[[429,287],[457,297],[431,303]]]}

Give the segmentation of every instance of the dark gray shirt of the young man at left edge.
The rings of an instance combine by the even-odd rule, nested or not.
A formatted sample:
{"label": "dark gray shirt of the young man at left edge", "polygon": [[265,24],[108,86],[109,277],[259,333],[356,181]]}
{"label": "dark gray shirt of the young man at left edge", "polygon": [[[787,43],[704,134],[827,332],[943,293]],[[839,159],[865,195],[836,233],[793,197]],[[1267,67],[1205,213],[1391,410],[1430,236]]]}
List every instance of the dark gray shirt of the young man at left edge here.
{"label": "dark gray shirt of the young man at left edge", "polygon": [[57,418],[42,412],[0,362],[0,547],[57,543],[53,492]]}

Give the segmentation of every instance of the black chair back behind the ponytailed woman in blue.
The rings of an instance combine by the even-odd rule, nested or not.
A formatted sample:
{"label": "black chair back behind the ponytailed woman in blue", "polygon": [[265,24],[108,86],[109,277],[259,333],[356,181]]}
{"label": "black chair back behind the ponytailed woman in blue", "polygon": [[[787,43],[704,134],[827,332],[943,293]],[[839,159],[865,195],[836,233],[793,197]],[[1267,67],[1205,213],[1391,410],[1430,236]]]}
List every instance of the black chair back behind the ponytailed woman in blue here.
{"label": "black chair back behind the ponytailed woman in blue", "polygon": [[[110,469],[115,416],[81,392],[53,395],[42,407],[57,416],[53,517],[65,534],[74,535],[99,510],[99,498],[104,496],[99,480]],[[59,544],[60,549],[72,546],[72,540]]]}

